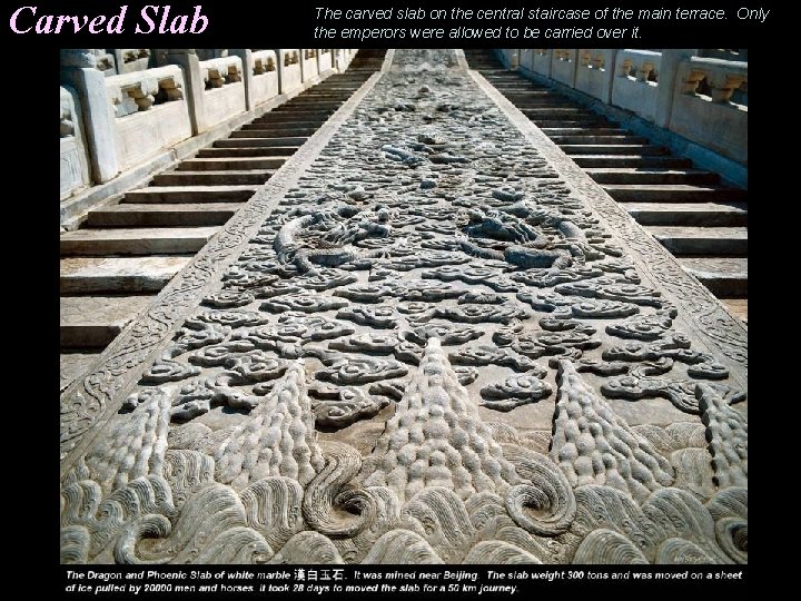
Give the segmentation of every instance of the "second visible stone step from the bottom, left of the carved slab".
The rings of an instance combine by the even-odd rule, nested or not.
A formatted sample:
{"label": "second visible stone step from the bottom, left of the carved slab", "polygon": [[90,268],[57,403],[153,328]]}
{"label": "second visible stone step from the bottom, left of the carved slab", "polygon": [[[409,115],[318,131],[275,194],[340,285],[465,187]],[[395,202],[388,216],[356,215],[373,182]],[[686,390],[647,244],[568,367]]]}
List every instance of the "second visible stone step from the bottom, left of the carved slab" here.
{"label": "second visible stone step from the bottom, left of the carved slab", "polygon": [[65,296],[61,348],[102,348],[152,300],[152,296]]}

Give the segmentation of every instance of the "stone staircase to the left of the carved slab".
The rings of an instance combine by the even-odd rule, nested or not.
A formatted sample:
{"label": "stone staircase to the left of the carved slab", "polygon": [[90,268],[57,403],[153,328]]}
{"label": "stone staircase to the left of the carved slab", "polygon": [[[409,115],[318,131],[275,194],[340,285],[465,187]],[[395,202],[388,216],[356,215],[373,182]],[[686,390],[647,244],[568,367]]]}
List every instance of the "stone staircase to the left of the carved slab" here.
{"label": "stone staircase to the left of the carved slab", "polygon": [[344,73],[216,140],[60,239],[61,390],[375,71],[360,50]]}

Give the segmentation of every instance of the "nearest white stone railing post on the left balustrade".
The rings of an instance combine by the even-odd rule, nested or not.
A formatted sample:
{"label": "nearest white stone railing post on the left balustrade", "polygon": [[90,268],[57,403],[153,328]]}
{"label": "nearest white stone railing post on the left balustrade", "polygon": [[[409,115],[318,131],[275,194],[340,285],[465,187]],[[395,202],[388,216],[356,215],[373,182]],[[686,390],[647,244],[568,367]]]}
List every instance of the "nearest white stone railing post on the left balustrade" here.
{"label": "nearest white stone railing post on the left balustrade", "polygon": [[106,97],[106,76],[92,50],[61,50],[61,82],[76,89],[83,110],[92,179],[102,184],[119,173],[113,110]]}

